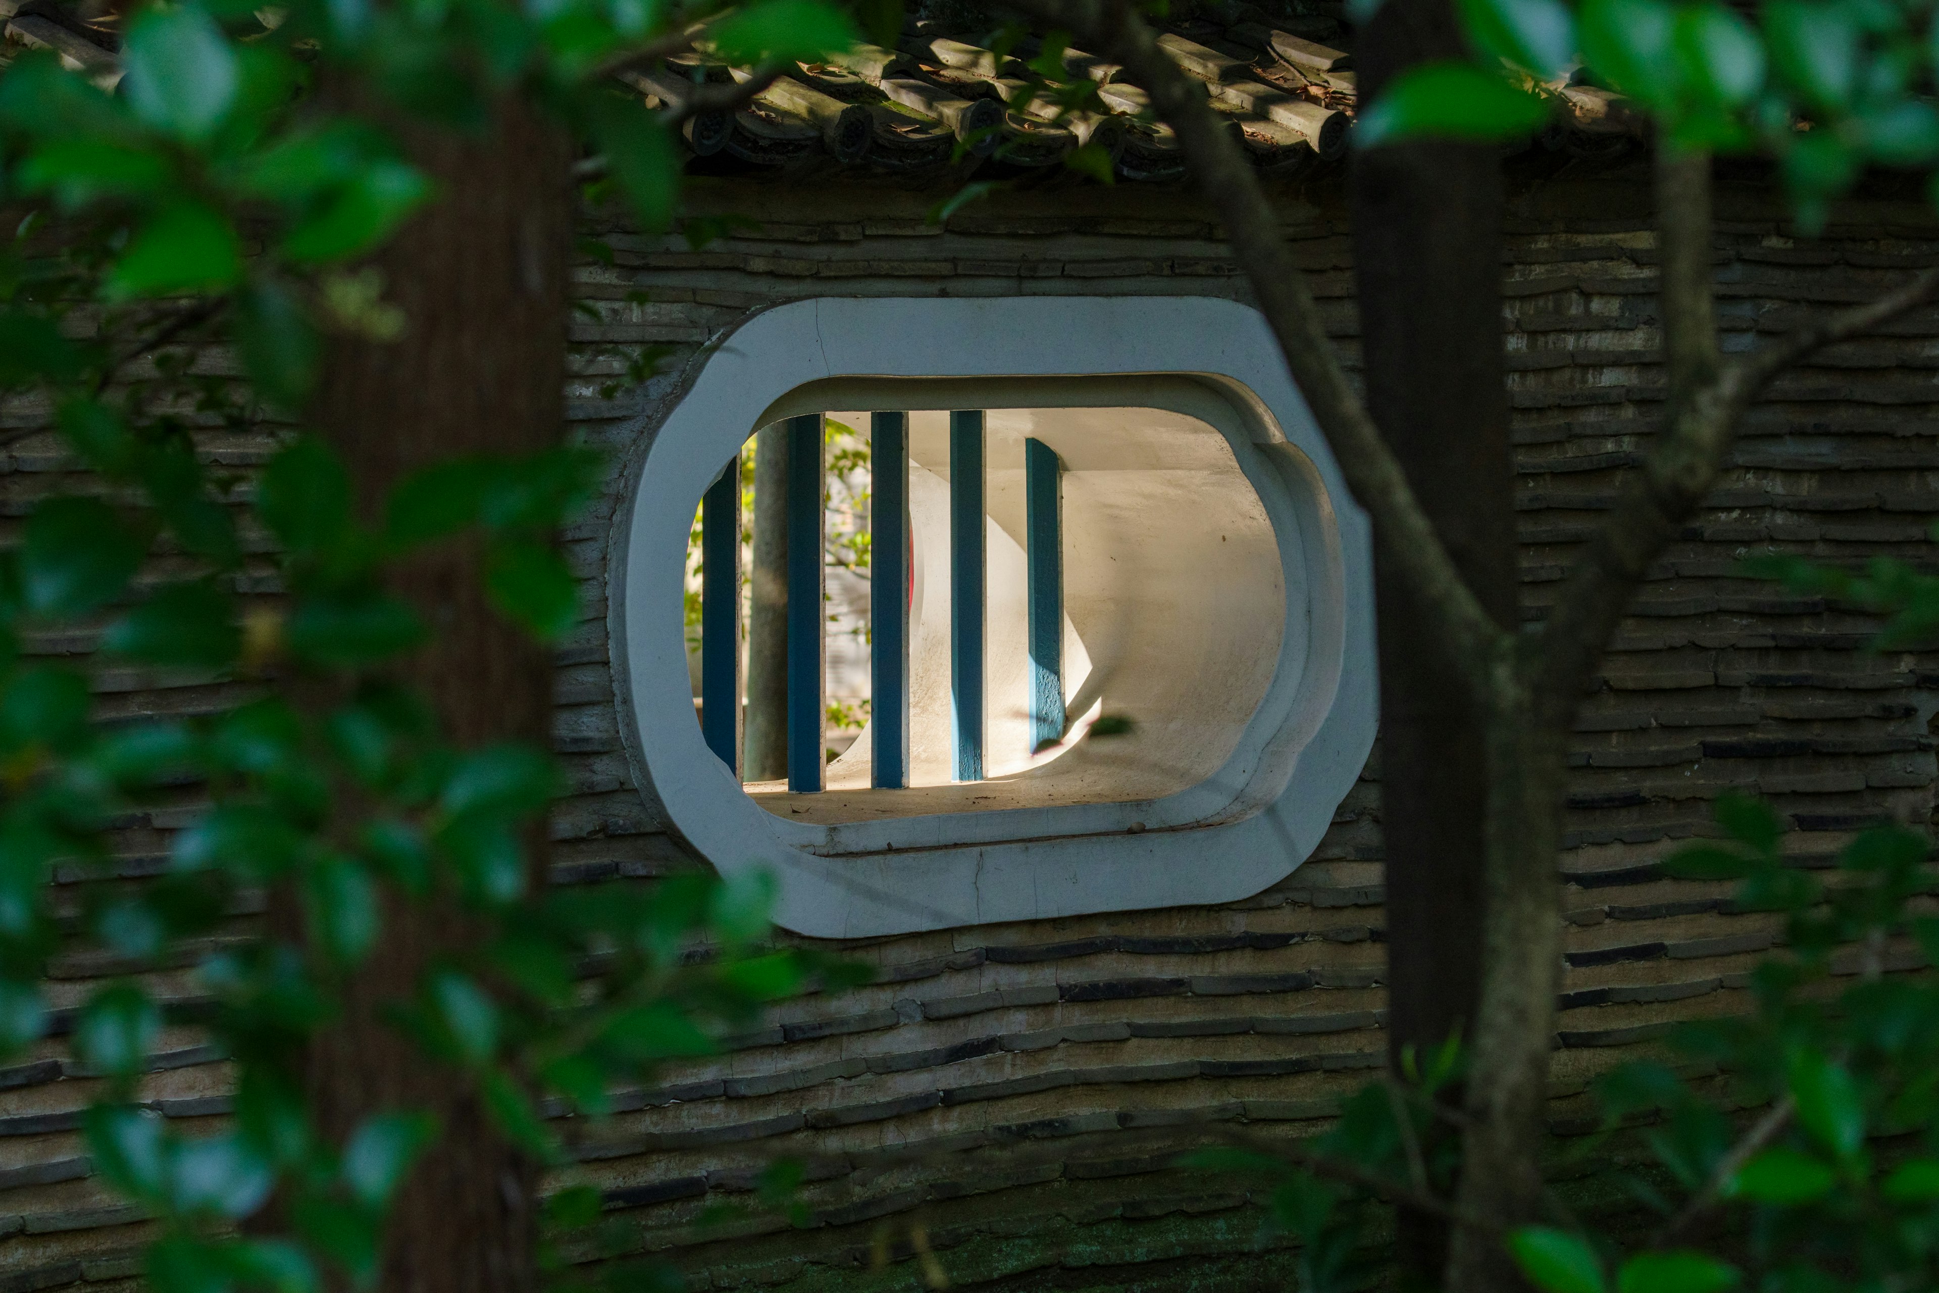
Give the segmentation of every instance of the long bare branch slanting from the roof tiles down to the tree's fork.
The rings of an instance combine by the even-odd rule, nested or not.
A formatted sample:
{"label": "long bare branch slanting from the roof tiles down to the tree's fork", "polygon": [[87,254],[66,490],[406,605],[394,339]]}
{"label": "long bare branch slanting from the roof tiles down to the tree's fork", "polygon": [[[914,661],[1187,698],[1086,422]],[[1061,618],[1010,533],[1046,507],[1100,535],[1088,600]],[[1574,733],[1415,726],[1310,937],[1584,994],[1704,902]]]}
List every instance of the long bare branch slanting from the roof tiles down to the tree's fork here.
{"label": "long bare branch slanting from the roof tiles down to the tree's fork", "polygon": [[[1076,33],[1086,47],[1121,64],[1152,97],[1158,116],[1177,132],[1198,188],[1225,225],[1258,308],[1340,461],[1348,489],[1373,516],[1383,560],[1402,574],[1429,618],[1419,632],[1445,638],[1468,684],[1491,692],[1499,673],[1495,665],[1512,644],[1512,634],[1487,615],[1462,580],[1400,461],[1348,384],[1305,275],[1286,250],[1280,221],[1229,126],[1212,110],[1204,85],[1179,70],[1123,0],[1010,2],[1047,25]],[[1487,696],[1478,694],[1476,700],[1485,704]]]}

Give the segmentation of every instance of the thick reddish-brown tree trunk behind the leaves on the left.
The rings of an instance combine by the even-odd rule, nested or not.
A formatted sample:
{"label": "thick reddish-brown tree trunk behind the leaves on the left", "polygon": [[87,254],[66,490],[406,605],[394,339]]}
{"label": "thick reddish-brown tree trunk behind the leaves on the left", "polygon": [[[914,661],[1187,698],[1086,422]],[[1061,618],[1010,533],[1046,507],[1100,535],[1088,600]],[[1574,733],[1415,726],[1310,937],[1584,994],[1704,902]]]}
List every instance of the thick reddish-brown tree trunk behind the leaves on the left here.
{"label": "thick reddish-brown tree trunk behind the leaves on the left", "polygon": [[[489,130],[397,128],[436,200],[376,258],[399,339],[339,339],[326,359],[312,425],[349,463],[374,514],[409,471],[456,454],[533,454],[564,425],[570,151],[556,126],[516,97]],[[551,744],[549,651],[485,601],[475,545],[442,545],[394,580],[434,640],[401,673],[461,742]],[[531,841],[543,878],[543,832]],[[471,1084],[432,1062],[382,1006],[425,967],[481,934],[456,903],[392,901],[384,934],[347,989],[341,1020],[306,1058],[318,1126],[343,1136],[382,1109],[427,1109],[438,1140],[392,1215],[378,1287],[386,1293],[525,1293],[533,1264],[537,1167],[498,1134]]]}

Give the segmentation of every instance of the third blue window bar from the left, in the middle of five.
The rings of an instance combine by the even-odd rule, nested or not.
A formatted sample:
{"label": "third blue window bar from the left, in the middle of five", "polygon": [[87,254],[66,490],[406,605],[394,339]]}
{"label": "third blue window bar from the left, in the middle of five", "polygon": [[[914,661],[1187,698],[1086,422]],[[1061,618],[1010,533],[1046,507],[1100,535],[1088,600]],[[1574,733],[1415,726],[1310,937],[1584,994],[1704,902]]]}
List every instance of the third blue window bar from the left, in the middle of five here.
{"label": "third blue window bar from the left, in the middle of five", "polygon": [[878,789],[909,783],[909,415],[869,415],[869,731]]}

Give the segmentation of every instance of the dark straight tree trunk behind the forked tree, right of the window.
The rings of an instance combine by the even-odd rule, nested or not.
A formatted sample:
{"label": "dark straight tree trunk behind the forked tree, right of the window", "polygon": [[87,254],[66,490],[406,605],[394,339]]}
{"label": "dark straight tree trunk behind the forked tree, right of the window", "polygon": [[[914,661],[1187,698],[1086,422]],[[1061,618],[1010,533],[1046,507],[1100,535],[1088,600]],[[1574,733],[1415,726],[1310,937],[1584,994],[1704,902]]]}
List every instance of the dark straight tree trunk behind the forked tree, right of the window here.
{"label": "dark straight tree trunk behind the forked tree, right of the window", "polygon": [[[1464,56],[1446,0],[1388,0],[1353,58],[1367,99],[1404,68]],[[1408,143],[1353,157],[1353,266],[1367,409],[1456,568],[1516,622],[1514,465],[1503,394],[1501,161]],[[1487,758],[1460,665],[1377,556],[1388,1062],[1472,1037],[1481,985]],[[1458,1103],[1458,1091],[1450,1093]],[[1437,1287],[1446,1223],[1402,1210],[1402,1289]]]}

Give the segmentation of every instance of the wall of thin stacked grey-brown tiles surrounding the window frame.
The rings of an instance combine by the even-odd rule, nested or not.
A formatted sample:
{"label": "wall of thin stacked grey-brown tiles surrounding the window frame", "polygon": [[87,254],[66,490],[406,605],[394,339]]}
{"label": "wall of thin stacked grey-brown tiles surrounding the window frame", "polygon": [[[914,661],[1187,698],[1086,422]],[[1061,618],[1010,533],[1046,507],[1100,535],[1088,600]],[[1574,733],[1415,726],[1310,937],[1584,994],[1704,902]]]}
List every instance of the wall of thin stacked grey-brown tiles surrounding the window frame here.
{"label": "wall of thin stacked grey-brown tiles surrounding the window frame", "polygon": [[[1662,392],[1646,174],[1528,182],[1512,204],[1509,347],[1528,615],[1648,444]],[[681,366],[750,312],[814,295],[1220,295],[1245,299],[1216,227],[1185,192],[1121,186],[1012,192],[925,221],[935,192],[845,182],[704,180],[698,211],[768,213],[704,250],[589,217],[611,262],[578,269],[597,322],[574,322],[570,415],[613,461]],[[1873,295],[1931,262],[1916,205],[1854,204],[1815,240],[1759,192],[1726,188],[1718,283],[1730,345]],[[1351,357],[1350,244],[1338,192],[1287,192],[1287,235]],[[644,293],[644,300],[640,299]],[[613,347],[669,345],[667,376],[601,397]],[[221,357],[207,361],[221,370]],[[1573,744],[1567,983],[1555,1120],[1580,1122],[1584,1082],[1646,1049],[1666,1022],[1745,1004],[1772,925],[1732,913],[1722,886],[1658,863],[1699,834],[1724,789],[1770,795],[1794,847],[1828,855],[1881,816],[1927,822],[1939,673],[1869,653],[1867,622],[1735,576],[1751,552],[1923,556],[1939,471],[1939,310],[1819,357],[1751,417],[1704,512],[1658,562],[1584,704]],[[70,481],[33,405],[0,411],[0,525]],[[207,428],[246,469],[268,430]],[[572,793],[553,834],[560,882],[650,878],[688,865],[630,787],[613,706],[607,552],[622,481],[570,533],[586,622],[558,655],[556,744]],[[1406,634],[1406,626],[1383,626]],[[85,634],[41,642],[83,653]],[[225,686],[105,671],[103,713],[198,711]],[[126,870],[157,865],[192,804],[122,837]],[[1243,1181],[1167,1167],[1194,1126],[1256,1134],[1324,1126],[1384,1056],[1379,760],[1315,857],[1247,901],[909,934],[842,950],[874,985],[779,1008],[719,1060],[667,1074],[603,1124],[568,1128],[560,1181],[607,1190],[599,1254],[659,1254],[694,1287],[1287,1287],[1289,1248],[1260,1239]],[[62,1002],[107,965],[54,969]],[[175,994],[186,973],[165,977]],[[227,1072],[171,1033],[145,1097],[186,1128],[227,1109]],[[118,1289],[147,1227],[91,1175],[78,1109],[91,1082],[48,1043],[0,1070],[0,1293]],[[779,1155],[805,1163],[799,1215],[754,1208]],[[921,1250],[935,1266],[925,1266]]]}

